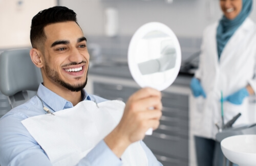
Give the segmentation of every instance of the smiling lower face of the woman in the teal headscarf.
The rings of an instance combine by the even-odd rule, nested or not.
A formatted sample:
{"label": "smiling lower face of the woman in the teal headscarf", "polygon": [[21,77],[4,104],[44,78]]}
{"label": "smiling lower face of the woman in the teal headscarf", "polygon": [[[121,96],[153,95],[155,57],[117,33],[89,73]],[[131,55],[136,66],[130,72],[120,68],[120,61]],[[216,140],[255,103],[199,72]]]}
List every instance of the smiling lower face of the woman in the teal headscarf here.
{"label": "smiling lower face of the woman in the teal headscarf", "polygon": [[242,10],[242,0],[220,0],[220,6],[227,19],[234,19]]}

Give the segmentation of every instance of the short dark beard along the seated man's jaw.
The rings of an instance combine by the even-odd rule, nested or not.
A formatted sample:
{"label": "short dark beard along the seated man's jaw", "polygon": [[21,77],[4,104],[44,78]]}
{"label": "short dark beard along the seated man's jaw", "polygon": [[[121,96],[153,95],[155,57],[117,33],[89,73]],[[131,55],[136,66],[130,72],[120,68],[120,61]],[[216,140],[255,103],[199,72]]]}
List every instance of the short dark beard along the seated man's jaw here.
{"label": "short dark beard along the seated man's jaw", "polygon": [[[89,67],[88,67],[89,68]],[[51,69],[48,65],[48,63],[46,62],[45,64],[45,69],[46,69],[46,75],[47,77],[49,77],[51,80],[53,80],[54,82],[60,84],[62,87],[65,87],[67,89],[69,89],[70,91],[81,91],[87,84],[87,74],[88,74],[88,70],[87,70],[87,74],[86,74],[86,81],[84,81],[84,83],[80,83],[78,85],[71,85],[63,80],[61,80],[59,78],[58,73]],[[75,78],[76,80],[79,80],[80,78],[77,77]]]}

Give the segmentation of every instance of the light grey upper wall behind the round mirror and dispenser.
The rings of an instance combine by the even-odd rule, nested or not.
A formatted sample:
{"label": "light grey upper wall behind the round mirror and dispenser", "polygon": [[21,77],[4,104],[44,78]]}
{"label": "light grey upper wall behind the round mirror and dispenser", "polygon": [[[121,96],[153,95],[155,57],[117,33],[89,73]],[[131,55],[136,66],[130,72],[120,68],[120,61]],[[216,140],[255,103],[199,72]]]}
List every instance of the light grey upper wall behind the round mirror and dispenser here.
{"label": "light grey upper wall behind the round mirror and dispenser", "polygon": [[[160,21],[178,36],[201,37],[203,29],[222,15],[219,0],[60,0],[60,5],[77,12],[84,32],[96,36],[104,35],[104,10],[109,7],[118,10],[121,36],[132,35],[145,22]],[[251,17],[256,21],[256,9]]]}

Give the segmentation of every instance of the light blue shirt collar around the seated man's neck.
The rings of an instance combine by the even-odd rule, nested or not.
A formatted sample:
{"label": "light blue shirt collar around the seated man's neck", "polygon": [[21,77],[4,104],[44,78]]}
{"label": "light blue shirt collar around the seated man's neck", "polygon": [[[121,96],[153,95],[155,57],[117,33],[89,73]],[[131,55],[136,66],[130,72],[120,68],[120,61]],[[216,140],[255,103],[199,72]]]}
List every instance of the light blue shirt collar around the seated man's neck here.
{"label": "light blue shirt collar around the seated man's neck", "polygon": [[[42,102],[44,102],[44,104],[52,111],[56,112],[73,107],[73,104],[71,102],[58,96],[58,94],[54,93],[42,84],[39,85],[37,94],[39,98],[41,98]],[[82,100],[91,100],[91,97],[84,89],[82,89]]]}

